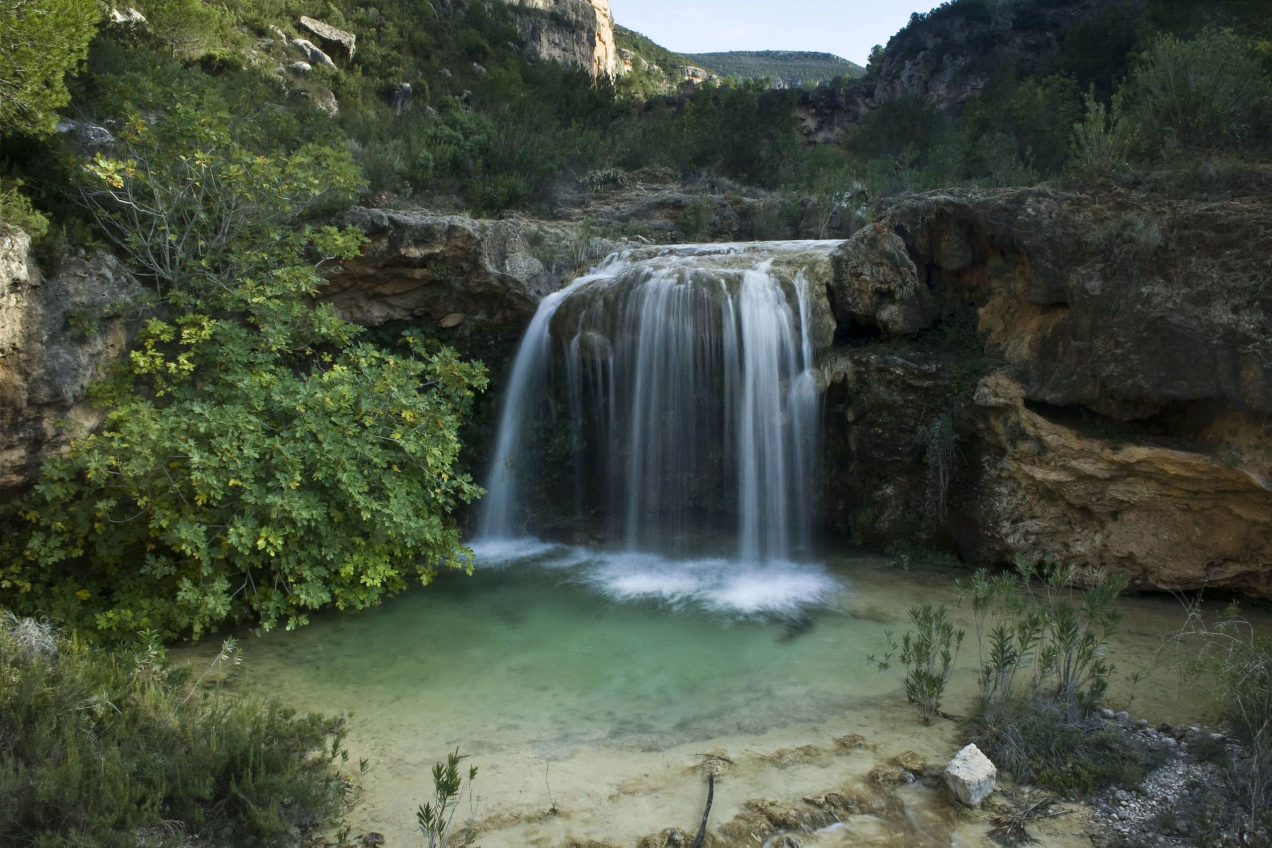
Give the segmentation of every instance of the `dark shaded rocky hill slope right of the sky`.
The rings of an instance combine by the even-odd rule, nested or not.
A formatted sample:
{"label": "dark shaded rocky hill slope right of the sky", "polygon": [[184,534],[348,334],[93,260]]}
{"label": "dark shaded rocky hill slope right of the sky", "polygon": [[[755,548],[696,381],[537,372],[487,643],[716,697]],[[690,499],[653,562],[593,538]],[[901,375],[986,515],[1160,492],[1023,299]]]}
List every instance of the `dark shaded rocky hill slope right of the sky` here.
{"label": "dark shaded rocky hill slope right of the sky", "polygon": [[[1144,6],[1133,0],[1128,8]],[[1100,0],[1032,4],[946,4],[893,36],[870,76],[800,94],[798,116],[809,141],[833,141],[873,109],[916,97],[958,112],[1000,66],[1021,76],[1056,51],[1068,32],[1108,10]]]}

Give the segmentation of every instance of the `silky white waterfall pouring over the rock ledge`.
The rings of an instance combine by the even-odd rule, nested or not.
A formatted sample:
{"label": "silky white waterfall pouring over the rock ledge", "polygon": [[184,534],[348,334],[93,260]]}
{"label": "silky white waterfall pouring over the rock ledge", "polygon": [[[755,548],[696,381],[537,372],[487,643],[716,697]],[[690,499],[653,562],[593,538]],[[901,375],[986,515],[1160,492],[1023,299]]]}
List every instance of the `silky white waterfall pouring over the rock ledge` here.
{"label": "silky white waterfall pouring over the rock ledge", "polygon": [[837,242],[642,248],[550,295],[508,384],[477,542],[593,516],[632,551],[712,520],[747,562],[808,545],[818,395],[803,264]]}

